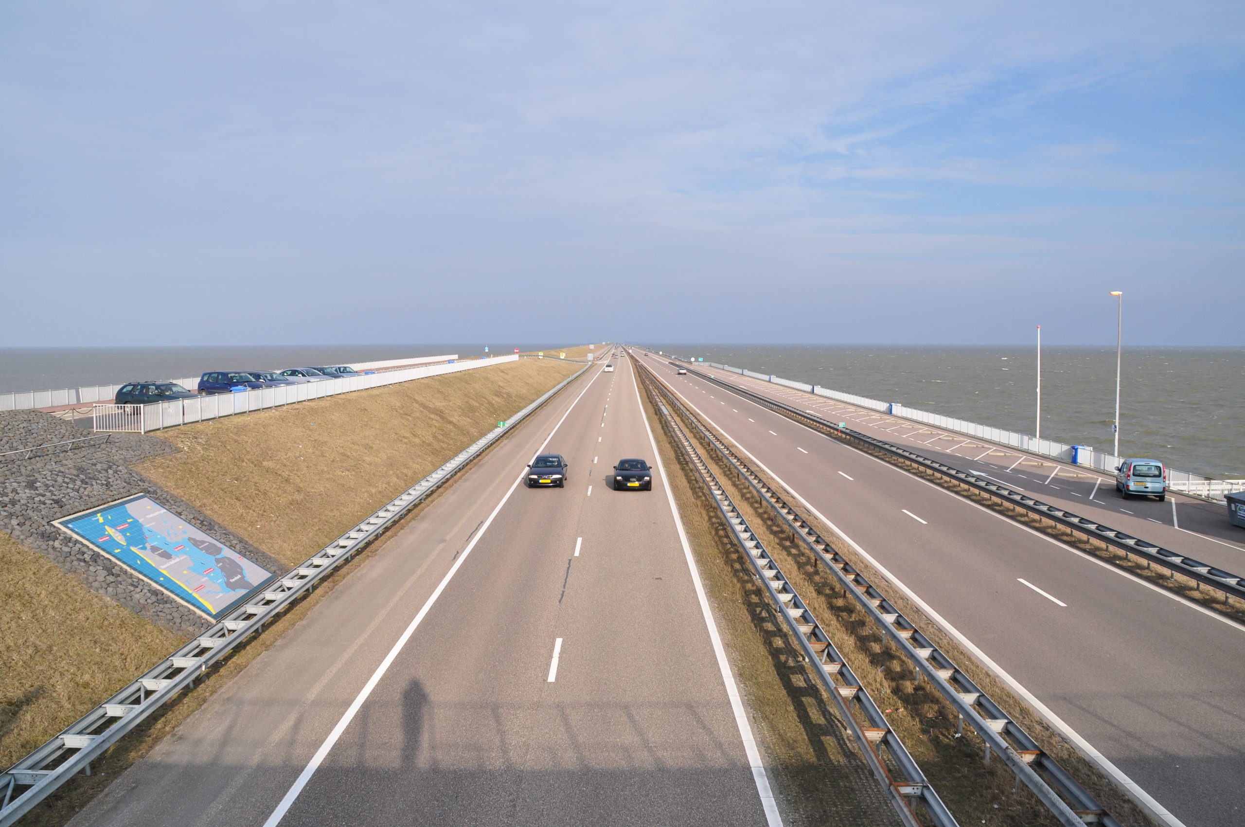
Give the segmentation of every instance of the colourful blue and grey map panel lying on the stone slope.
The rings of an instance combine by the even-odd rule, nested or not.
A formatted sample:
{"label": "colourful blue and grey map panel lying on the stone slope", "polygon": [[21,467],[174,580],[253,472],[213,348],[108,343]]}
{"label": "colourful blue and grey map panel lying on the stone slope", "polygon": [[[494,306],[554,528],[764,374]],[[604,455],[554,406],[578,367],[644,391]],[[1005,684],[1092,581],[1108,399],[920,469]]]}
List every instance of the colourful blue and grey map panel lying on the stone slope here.
{"label": "colourful blue and grey map panel lying on the stone slope", "polygon": [[56,524],[213,619],[273,577],[146,494]]}

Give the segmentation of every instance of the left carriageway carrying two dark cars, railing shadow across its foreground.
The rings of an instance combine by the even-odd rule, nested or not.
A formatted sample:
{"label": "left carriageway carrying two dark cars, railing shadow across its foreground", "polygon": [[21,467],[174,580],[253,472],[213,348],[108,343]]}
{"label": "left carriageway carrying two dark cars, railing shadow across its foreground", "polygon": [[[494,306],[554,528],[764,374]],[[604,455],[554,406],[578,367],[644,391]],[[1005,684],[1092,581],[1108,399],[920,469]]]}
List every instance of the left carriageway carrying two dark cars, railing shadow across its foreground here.
{"label": "left carriageway carrying two dark cars, railing shadow across its foreground", "polygon": [[71,823],[781,823],[650,440],[593,366]]}

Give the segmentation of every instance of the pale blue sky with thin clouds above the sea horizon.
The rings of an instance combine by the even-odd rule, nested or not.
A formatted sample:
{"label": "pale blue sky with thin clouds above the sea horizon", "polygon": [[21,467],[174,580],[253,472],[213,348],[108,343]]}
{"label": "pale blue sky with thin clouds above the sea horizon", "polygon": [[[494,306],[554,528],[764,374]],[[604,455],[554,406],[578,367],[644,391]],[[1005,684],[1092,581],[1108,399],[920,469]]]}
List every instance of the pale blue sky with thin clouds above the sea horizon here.
{"label": "pale blue sky with thin clouds above the sea horizon", "polygon": [[9,2],[0,346],[1113,344],[1112,289],[1243,345],[1243,57],[1239,1]]}

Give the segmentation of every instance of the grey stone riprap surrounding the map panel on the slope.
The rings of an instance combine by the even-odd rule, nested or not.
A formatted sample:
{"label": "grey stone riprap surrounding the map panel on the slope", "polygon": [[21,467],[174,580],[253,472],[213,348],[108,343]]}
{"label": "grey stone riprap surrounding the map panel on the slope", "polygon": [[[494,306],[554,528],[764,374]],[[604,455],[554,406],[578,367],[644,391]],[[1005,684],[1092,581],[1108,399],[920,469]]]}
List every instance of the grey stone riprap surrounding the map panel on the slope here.
{"label": "grey stone riprap surrounding the map panel on the slope", "polygon": [[[0,412],[0,453],[91,436],[72,422],[37,411]],[[134,471],[131,465],[174,453],[164,440],[113,433],[107,442],[32,458],[0,460],[0,531],[143,618],[179,634],[197,634],[210,621],[128,568],[52,524],[88,508],[146,493],[166,508],[270,572],[286,567],[193,506]]]}

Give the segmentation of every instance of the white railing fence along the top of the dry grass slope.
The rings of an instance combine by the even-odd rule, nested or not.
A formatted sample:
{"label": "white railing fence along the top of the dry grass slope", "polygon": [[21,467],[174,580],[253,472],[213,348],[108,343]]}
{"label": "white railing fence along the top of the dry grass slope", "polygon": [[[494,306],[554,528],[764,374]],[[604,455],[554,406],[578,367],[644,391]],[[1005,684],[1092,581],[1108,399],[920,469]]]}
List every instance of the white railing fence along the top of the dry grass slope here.
{"label": "white railing fence along the top of the dry grass slope", "polygon": [[[416,379],[428,376],[441,376],[443,374],[457,374],[464,370],[488,367],[489,365],[504,365],[517,361],[518,356],[498,356],[496,359],[479,359],[471,361],[456,361],[444,365],[426,365],[423,367],[408,367],[403,370],[391,370],[367,376],[342,376],[322,382],[305,382],[303,385],[284,385],[281,387],[261,387],[253,391],[237,394],[213,394],[197,399],[172,400],[168,402],[152,402],[149,405],[96,405],[95,414],[96,431],[137,431],[146,433],[159,428],[186,425],[187,422],[202,422],[215,420],[234,414],[249,414],[261,411],[280,405],[305,402],[324,396],[336,396],[350,391],[361,391],[370,387],[382,387],[385,385],[397,385],[410,382]],[[102,410],[101,410],[102,409]],[[132,414],[126,416],[120,409],[138,409],[138,416]],[[101,427],[102,423],[102,427]],[[137,423],[137,426],[136,426]],[[116,427],[113,427],[116,426]]]}

